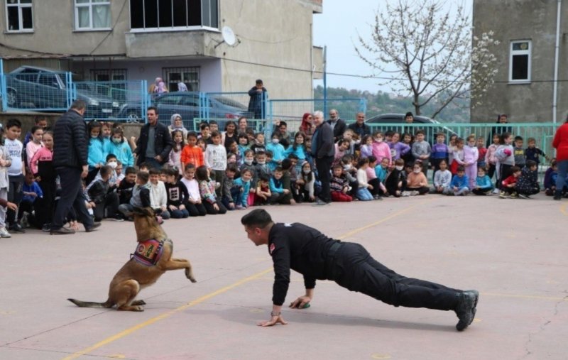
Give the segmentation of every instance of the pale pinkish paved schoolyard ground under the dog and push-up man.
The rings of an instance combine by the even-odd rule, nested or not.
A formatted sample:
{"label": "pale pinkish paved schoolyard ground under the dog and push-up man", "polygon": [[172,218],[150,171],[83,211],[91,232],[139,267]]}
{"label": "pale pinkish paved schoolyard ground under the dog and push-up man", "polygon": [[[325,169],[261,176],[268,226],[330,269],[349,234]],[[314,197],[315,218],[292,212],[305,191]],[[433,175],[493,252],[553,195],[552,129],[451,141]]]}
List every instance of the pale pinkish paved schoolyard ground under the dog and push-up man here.
{"label": "pale pinkish paved schoolyard ground under the dog and push-up man", "polygon": [[[457,332],[454,312],[393,307],[318,281],[311,307],[287,325],[258,327],[271,311],[266,246],[253,246],[246,211],[168,220],[174,254],[197,283],[165,273],[141,291],[144,312],[80,308],[104,301],[136,247],[131,222],[50,236],[0,239],[0,359],[568,359],[568,201],[537,195],[388,198],[266,207],[363,244],[398,273],[481,293]],[[304,293],[293,273],[286,302]]]}

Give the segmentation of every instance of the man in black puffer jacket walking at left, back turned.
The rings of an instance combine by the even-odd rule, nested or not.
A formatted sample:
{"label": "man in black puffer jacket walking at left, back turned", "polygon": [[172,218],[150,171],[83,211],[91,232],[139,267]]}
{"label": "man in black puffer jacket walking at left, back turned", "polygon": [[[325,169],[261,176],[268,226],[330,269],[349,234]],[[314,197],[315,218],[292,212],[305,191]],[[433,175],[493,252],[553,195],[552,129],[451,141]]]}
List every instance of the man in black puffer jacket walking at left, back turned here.
{"label": "man in black puffer jacket walking at left, back turned", "polygon": [[58,173],[61,184],[61,196],[53,214],[50,234],[75,234],[75,230],[63,227],[65,217],[71,208],[85,231],[91,232],[101,225],[93,222],[85,206],[81,178],[87,177],[87,128],[83,114],[86,104],[75,100],[53,126],[53,168]]}

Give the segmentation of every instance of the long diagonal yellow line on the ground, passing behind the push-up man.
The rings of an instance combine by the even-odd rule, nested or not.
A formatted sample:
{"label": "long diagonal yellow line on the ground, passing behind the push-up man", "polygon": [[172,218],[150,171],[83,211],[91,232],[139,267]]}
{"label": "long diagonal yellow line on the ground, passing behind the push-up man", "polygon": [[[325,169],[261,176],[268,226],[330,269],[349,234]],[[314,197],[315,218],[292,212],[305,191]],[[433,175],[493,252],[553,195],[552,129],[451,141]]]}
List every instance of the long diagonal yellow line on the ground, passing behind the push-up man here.
{"label": "long diagonal yellow line on the ground, passing behind the push-up man", "polygon": [[[419,203],[417,203],[417,204],[415,204],[411,207],[407,207],[405,209],[402,209],[398,212],[395,212],[391,215],[388,215],[388,217],[383,217],[383,219],[378,220],[376,222],[373,222],[372,224],[368,224],[368,225],[365,225],[364,227],[359,227],[357,229],[349,231],[348,233],[343,234],[342,236],[339,236],[337,239],[345,239],[349,236],[357,234],[358,232],[364,231],[368,228],[376,227],[378,224],[382,224],[383,222],[386,222],[390,219],[393,219],[393,217],[398,217],[399,215],[405,214],[406,212],[409,212],[410,210],[414,209],[415,207],[419,207],[420,205],[425,204],[426,202],[429,202],[429,201],[430,200],[425,200],[425,201],[419,202]],[[183,311],[183,310],[187,309],[188,307],[198,305],[198,304],[200,304],[200,303],[202,303],[206,300],[209,300],[210,298],[213,298],[214,296],[220,295],[222,293],[226,293],[227,291],[229,291],[233,288],[236,288],[237,286],[243,285],[244,283],[248,283],[251,280],[255,280],[256,278],[261,278],[261,276],[264,276],[271,271],[273,271],[272,266],[270,268],[264,270],[264,271],[261,271],[260,273],[254,274],[253,276],[249,276],[248,278],[244,278],[242,280],[239,280],[236,283],[225,286],[224,288],[220,288],[219,290],[216,290],[213,293],[209,293],[207,295],[204,295],[201,298],[198,298],[197,300],[187,302],[187,304],[185,304],[185,305],[177,307],[177,308],[170,310],[168,312],[164,312],[161,315],[152,317],[151,319],[148,319],[145,322],[141,322],[140,324],[134,325],[133,327],[129,327],[129,329],[126,329],[126,330],[121,331],[117,334],[114,334],[111,337],[107,337],[107,339],[104,339],[101,342],[97,342],[97,344],[94,344],[91,347],[87,347],[87,348],[82,349],[80,351],[77,351],[73,354],[70,354],[69,356],[66,356],[65,358],[63,358],[62,360],[77,359],[79,356],[89,354],[89,352],[96,350],[96,349],[99,349],[99,347],[104,347],[104,345],[110,344],[111,342],[114,342],[118,339],[121,339],[122,337],[126,337],[126,335],[132,334],[133,332],[136,332],[136,330],[142,329],[143,327],[147,327],[148,325],[151,325],[151,324],[158,322],[160,320],[164,320],[164,319],[174,315],[177,312]]]}

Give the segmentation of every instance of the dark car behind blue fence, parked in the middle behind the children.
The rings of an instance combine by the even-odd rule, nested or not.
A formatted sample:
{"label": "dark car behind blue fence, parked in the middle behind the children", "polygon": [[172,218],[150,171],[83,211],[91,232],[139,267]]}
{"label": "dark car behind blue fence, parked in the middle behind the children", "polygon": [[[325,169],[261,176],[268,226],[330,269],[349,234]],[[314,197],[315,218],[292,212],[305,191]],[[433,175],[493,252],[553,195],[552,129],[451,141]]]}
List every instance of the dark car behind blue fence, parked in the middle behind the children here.
{"label": "dark car behind blue fence, parked in the middle behind the children", "polygon": [[[199,92],[168,92],[160,94],[152,101],[152,106],[158,109],[158,121],[170,124],[173,114],[182,116],[183,124],[187,129],[194,129],[195,118],[207,117],[208,119],[238,119],[241,116],[251,117],[248,108],[229,97],[211,95],[205,98],[205,107],[200,106]],[[127,119],[129,122],[140,122],[140,104],[124,104],[119,111],[118,117]],[[221,124],[219,124],[221,128]]]}

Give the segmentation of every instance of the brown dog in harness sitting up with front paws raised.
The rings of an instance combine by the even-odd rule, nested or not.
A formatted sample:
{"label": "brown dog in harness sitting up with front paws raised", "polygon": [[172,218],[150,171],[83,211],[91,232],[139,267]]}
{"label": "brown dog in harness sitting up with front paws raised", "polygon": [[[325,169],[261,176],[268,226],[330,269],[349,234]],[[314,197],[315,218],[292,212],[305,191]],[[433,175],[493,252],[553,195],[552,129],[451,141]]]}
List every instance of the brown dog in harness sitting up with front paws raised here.
{"label": "brown dog in harness sitting up with front paws raised", "polygon": [[182,258],[172,258],[173,243],[155,220],[150,207],[134,208],[132,212],[138,247],[132,258],[112,278],[109,298],[105,302],[67,299],[79,307],[113,307],[117,310],[144,311],[143,300],[134,300],[140,290],[155,283],[165,271],[185,268],[185,276],[195,283],[191,264]]}

